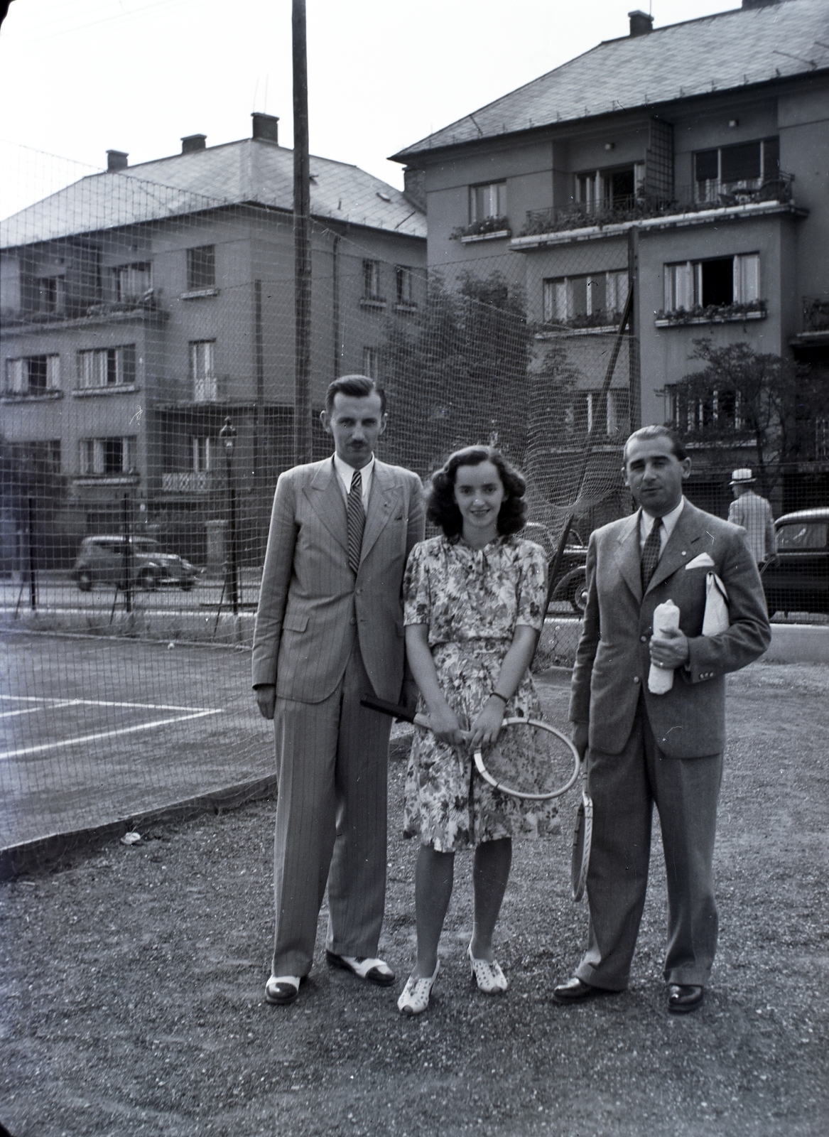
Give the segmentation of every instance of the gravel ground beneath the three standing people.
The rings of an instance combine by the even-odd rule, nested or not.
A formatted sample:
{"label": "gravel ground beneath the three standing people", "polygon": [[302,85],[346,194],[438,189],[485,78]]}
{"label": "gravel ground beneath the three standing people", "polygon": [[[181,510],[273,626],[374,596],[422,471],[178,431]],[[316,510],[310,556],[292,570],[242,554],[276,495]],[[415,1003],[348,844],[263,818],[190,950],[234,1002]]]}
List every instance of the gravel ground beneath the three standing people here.
{"label": "gravel ground beneath the three standing people", "polygon": [[[564,836],[516,845],[497,939],[506,996],[470,985],[461,856],[432,1005],[398,1015],[416,847],[398,836],[397,760],[381,944],[392,988],[320,962],[323,913],[300,999],[265,1005],[273,802],[0,886],[0,1120],[14,1137],[824,1134],[828,689],[821,666],[758,664],[730,680],[721,941],[699,1013],[664,1005],[657,835],[629,990],[552,1002],[586,933],[569,896],[567,804]],[[544,699],[561,721],[566,690],[545,686]]]}

